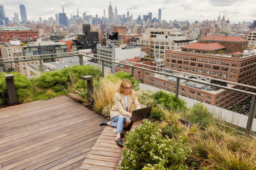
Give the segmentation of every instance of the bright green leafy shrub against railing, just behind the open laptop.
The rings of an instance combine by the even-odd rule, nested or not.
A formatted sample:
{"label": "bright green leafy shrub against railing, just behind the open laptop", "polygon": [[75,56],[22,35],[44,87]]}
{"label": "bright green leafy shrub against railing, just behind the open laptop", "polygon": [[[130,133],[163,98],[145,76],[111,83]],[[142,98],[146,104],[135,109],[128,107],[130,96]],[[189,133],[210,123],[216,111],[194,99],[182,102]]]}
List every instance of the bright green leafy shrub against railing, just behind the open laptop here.
{"label": "bright green leafy shrub against railing, just behind the open laptop", "polygon": [[163,90],[159,90],[153,94],[153,98],[155,103],[162,104],[167,109],[173,110],[186,110],[186,101],[182,98],[175,98],[175,95],[172,93],[163,92]]}

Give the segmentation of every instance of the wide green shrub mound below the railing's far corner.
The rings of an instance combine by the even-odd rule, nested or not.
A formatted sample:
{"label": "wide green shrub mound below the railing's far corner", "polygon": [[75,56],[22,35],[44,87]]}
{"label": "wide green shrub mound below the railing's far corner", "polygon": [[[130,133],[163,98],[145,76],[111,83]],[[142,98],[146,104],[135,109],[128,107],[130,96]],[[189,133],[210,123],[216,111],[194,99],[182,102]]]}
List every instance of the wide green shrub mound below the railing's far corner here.
{"label": "wide green shrub mound below the railing's far corner", "polygon": [[102,77],[102,71],[92,65],[75,65],[73,67],[67,67],[61,69],[61,73],[70,80],[69,72],[73,72],[75,80],[81,79],[82,76],[93,76],[93,78]]}

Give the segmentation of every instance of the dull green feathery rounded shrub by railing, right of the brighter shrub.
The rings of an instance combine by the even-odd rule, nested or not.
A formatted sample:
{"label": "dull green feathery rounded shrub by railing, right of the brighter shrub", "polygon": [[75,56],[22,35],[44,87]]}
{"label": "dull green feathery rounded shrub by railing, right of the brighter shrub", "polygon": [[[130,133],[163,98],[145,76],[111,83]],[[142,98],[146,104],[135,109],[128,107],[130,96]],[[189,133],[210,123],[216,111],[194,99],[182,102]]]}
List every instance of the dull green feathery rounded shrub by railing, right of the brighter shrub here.
{"label": "dull green feathery rounded shrub by railing, right of the brighter shrub", "polygon": [[183,117],[187,121],[201,125],[202,127],[208,127],[213,124],[213,113],[209,112],[207,107],[202,103],[194,104]]}

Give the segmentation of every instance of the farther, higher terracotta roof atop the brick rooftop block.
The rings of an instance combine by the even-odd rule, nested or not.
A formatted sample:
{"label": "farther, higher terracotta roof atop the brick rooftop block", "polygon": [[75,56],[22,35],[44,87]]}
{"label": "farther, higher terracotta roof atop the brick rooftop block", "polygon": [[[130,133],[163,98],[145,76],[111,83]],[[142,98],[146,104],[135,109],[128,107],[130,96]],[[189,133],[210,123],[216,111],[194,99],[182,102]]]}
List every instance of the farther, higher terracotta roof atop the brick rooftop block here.
{"label": "farther, higher terracotta roof atop the brick rooftop block", "polygon": [[214,40],[214,41],[230,41],[230,42],[247,42],[247,40],[239,36],[226,36],[226,35],[207,35],[200,40]]}

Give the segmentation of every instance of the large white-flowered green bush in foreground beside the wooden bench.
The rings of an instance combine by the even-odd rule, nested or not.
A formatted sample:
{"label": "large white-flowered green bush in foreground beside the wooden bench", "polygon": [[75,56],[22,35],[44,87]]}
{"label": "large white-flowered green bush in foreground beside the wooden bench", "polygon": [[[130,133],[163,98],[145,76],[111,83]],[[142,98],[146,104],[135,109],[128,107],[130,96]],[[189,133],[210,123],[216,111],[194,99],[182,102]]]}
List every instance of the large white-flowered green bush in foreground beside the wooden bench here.
{"label": "large white-flowered green bush in foreground beside the wooden bench", "polygon": [[157,122],[143,120],[143,125],[127,133],[122,155],[122,170],[173,169],[183,170],[185,154],[191,152],[181,138],[170,139],[161,135]]}

